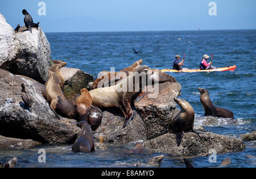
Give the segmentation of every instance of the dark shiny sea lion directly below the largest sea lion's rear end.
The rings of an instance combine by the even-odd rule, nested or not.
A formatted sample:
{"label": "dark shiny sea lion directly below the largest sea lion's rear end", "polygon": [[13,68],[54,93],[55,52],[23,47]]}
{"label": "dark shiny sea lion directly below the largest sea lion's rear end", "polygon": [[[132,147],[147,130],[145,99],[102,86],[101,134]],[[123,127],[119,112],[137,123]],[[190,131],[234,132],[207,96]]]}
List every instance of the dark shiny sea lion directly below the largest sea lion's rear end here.
{"label": "dark shiny sea lion directly below the largest sea lion's rear end", "polygon": [[101,109],[92,105],[90,108],[89,124],[93,131],[96,131],[101,125],[102,117]]}

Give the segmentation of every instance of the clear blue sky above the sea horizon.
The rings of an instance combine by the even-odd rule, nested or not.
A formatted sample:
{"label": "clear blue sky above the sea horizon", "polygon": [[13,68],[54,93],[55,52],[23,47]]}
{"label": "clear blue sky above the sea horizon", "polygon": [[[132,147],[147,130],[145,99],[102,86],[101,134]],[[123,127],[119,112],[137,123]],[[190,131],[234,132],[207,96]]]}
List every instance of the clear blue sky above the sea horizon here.
{"label": "clear blue sky above the sea horizon", "polygon": [[46,16],[38,15],[38,0],[0,1],[0,13],[14,28],[23,23],[23,8],[44,32],[184,31],[256,29],[255,0],[43,0]]}

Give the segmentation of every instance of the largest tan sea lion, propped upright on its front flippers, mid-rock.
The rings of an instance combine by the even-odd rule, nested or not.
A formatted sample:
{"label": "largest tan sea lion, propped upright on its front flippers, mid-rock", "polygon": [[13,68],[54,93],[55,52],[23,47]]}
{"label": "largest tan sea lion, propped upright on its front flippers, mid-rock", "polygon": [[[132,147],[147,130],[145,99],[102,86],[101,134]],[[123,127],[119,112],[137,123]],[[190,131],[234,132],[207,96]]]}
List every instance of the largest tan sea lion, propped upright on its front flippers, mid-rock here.
{"label": "largest tan sea lion, propped upright on its front flippers, mid-rock", "polygon": [[[126,127],[133,118],[131,99],[146,86],[146,82],[142,82],[142,79],[147,80],[152,74],[153,72],[148,66],[140,66],[133,75],[123,79],[121,83],[115,86],[89,91],[93,100],[92,104],[100,108],[117,107],[121,109],[125,116],[123,127]],[[138,82],[134,79],[138,79]]]}

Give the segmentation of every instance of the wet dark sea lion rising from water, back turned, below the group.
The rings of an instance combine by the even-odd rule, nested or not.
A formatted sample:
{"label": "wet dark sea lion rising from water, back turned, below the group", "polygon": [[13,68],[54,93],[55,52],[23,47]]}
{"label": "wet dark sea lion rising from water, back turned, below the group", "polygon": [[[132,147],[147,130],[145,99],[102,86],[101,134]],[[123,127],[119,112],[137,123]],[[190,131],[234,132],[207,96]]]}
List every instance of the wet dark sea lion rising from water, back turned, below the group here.
{"label": "wet dark sea lion rising from water, back turned, below the group", "polygon": [[78,123],[78,126],[81,127],[82,130],[77,135],[72,151],[75,153],[94,152],[94,139],[89,123],[87,121],[81,121]]}

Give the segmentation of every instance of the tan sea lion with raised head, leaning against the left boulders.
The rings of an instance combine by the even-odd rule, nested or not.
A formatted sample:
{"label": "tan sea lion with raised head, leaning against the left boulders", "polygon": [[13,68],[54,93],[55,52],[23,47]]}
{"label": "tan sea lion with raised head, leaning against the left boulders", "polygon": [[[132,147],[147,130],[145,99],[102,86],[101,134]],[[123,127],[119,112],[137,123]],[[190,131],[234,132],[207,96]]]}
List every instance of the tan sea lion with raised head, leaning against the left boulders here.
{"label": "tan sea lion with raised head, leaning against the left boulders", "polygon": [[[60,114],[63,117],[74,119],[76,118],[76,107],[69,102],[63,95],[60,89],[59,75],[49,70],[49,80],[46,86],[47,101],[51,103],[50,107],[53,112]],[[56,114],[57,118],[59,116]]]}

